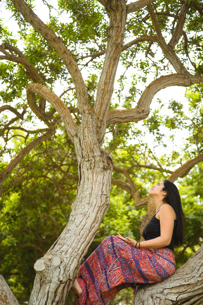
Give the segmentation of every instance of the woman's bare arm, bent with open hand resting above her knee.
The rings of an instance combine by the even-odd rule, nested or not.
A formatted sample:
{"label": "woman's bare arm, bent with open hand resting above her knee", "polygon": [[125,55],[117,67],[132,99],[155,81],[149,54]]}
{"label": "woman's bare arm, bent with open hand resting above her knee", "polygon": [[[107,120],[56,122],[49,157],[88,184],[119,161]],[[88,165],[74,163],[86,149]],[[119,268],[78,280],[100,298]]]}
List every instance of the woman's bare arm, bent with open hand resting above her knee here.
{"label": "woman's bare arm, bent with open hand resting above her knee", "polygon": [[[160,211],[157,213],[157,218],[160,218],[160,232],[161,236],[146,240],[142,242],[142,248],[163,248],[170,244],[173,234],[173,226],[174,226],[174,211],[169,204],[164,204]],[[117,232],[118,233],[118,232]],[[132,238],[124,238],[118,233],[117,237],[124,240],[128,244],[132,246],[136,246],[136,240]],[[141,245],[140,245],[141,246]],[[137,248],[139,244],[137,244]]]}

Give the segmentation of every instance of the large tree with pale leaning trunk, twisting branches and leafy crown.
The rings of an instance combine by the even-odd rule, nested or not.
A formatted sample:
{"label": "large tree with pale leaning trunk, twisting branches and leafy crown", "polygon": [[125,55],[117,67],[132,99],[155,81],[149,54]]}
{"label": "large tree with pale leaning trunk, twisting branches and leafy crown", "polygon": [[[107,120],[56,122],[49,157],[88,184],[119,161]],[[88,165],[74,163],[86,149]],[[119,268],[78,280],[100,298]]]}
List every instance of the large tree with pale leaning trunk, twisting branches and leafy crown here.
{"label": "large tree with pale leaning trunk, twisting branches and leafy crown", "polygon": [[[8,174],[31,149],[54,135],[56,126],[64,124],[77,156],[79,176],[77,196],[72,204],[72,212],[65,229],[48,252],[34,265],[37,274],[30,298],[30,304],[63,304],[74,282],[82,257],[98,231],[109,204],[113,160],[111,155],[101,147],[107,126],[111,125],[113,128],[115,124],[136,122],[146,118],[149,115],[150,103],[154,95],[163,88],[174,84],[187,87],[202,82],[201,62],[192,62],[190,59],[191,46],[195,46],[193,52],[197,58],[201,59],[201,37],[198,35],[198,31],[201,30],[199,21],[202,16],[202,7],[195,1],[157,3],[141,0],[126,5],[123,0],[101,0],[99,3],[102,6],[98,2],[67,3],[60,1],[60,8],[71,12],[73,21],[68,26],[58,24],[57,19],[53,16],[50,16],[50,23],[45,25],[34,14],[31,4],[28,6],[23,0],[12,0],[11,2],[7,2],[8,7],[15,13],[18,23],[25,26],[24,29],[21,29],[20,35],[26,47],[25,52],[21,52],[16,47],[17,41],[9,37],[8,30],[2,28],[5,41],[0,48],[4,54],[0,56],[0,59],[6,60],[6,63],[1,66],[4,71],[2,78],[5,83],[10,85],[7,85],[7,92],[1,92],[4,102],[6,102],[6,105],[1,107],[1,111],[10,110],[16,115],[15,118],[7,121],[2,129],[5,140],[3,152],[9,150],[6,145],[9,142],[9,135],[15,137],[15,134],[12,134],[13,130],[18,130],[18,136],[24,138],[25,142],[28,140],[29,144],[25,147],[23,147],[24,144],[20,145],[21,150],[19,149],[20,151],[16,153],[13,160],[2,170],[0,183],[2,185]],[[153,2],[153,6],[150,4],[151,2]],[[170,13],[171,11],[173,13]],[[131,15],[131,13],[133,14]],[[91,14],[94,15],[94,18],[90,22]],[[109,18],[108,34],[106,14]],[[82,23],[81,20],[85,20],[85,18],[88,22]],[[173,19],[172,26],[170,18]],[[27,35],[27,23],[24,19],[34,28],[29,35]],[[78,26],[76,35],[74,34],[75,23]],[[200,25],[196,28],[194,24]],[[138,37],[123,44],[125,33],[130,37]],[[170,34],[168,44],[166,43],[169,36],[167,33]],[[87,45],[87,39],[90,40],[90,38],[94,44],[93,47],[91,44]],[[30,43],[33,39],[37,43],[34,56],[32,56],[33,49]],[[81,43],[79,54],[78,42]],[[154,43],[157,43],[163,52],[161,59],[156,59],[152,47]],[[131,51],[130,48],[135,45],[136,49]],[[80,56],[82,48],[85,48],[87,55]],[[99,52],[97,48],[99,48]],[[40,50],[43,49],[46,52],[49,51],[50,54],[42,62],[38,57],[38,52],[40,54]],[[126,53],[123,55],[125,51]],[[129,97],[124,103],[126,109],[118,110],[117,106],[111,105],[118,62],[121,58],[124,66],[133,65],[137,52],[146,54],[146,61],[136,63],[143,69],[140,72],[143,83],[147,81],[149,70],[155,72],[158,78],[143,90],[135,108],[131,107],[132,97]],[[24,55],[25,53],[27,56]],[[102,64],[98,58],[104,54]],[[88,62],[83,61],[88,57],[91,58],[89,64],[98,69],[102,67],[102,71],[98,83],[96,76],[91,75],[85,85],[78,65],[79,63],[84,66],[88,65]],[[7,62],[10,62],[9,68]],[[171,72],[173,69],[176,73]],[[69,88],[64,90],[60,97],[52,91],[57,79],[61,82],[66,81],[66,86],[69,85]],[[120,78],[121,89],[124,86],[124,80],[125,75],[123,74]],[[135,90],[138,90],[136,81],[135,76],[129,90],[134,96]],[[10,102],[16,97],[25,101],[24,88],[27,89],[27,102],[31,111],[27,110],[26,103],[24,103],[23,112],[20,113],[19,108],[22,104],[17,104],[15,109]],[[61,100],[68,90],[74,91],[72,101],[77,99],[78,108],[75,107],[74,102],[70,106]],[[121,96],[121,90],[118,90],[118,97],[121,98]],[[71,113],[74,113],[75,120]],[[77,116],[75,113],[79,113],[79,115]],[[34,115],[46,125],[46,128],[27,130],[19,124],[15,124],[18,120],[32,121]],[[4,119],[8,120],[8,117],[5,115]],[[38,137],[40,134],[41,136]],[[199,134],[201,134],[201,129]],[[202,152],[198,151],[198,156],[191,159],[197,158],[201,161],[201,154]],[[197,163],[197,159],[193,162],[188,160],[189,166],[187,163],[185,171],[182,167],[179,174],[187,173]],[[128,176],[127,173],[125,174]],[[75,237],[72,232],[76,230],[77,236]],[[200,248],[199,253],[201,251]],[[2,290],[8,291],[8,287],[2,285]],[[2,295],[5,295],[4,292]],[[199,292],[198,297],[201,297]],[[197,296],[192,295],[191,300],[193,298],[196,300]],[[12,302],[14,303],[13,300]]]}

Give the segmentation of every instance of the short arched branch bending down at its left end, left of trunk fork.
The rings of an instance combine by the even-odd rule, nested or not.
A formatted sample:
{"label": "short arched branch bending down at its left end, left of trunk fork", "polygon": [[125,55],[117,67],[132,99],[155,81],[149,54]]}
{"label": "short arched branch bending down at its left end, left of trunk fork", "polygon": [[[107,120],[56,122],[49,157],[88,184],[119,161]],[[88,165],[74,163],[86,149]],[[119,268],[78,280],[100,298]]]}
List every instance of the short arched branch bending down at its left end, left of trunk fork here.
{"label": "short arched branch bending down at its left end, left of trunk fork", "polygon": [[78,127],[75,124],[70,111],[62,102],[62,100],[53,91],[41,84],[28,84],[27,100],[34,99],[35,94],[42,96],[58,111],[60,117],[63,119],[67,133],[72,140]]}

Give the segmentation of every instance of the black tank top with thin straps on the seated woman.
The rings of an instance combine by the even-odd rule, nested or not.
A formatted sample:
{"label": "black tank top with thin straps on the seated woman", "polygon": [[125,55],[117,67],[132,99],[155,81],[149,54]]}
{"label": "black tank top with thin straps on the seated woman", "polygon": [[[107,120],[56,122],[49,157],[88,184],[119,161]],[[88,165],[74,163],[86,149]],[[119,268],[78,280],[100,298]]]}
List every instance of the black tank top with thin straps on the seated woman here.
{"label": "black tank top with thin straps on the seated woman", "polygon": [[[157,213],[158,213],[158,211],[157,211]],[[161,236],[160,220],[155,217],[157,213],[154,214],[154,216],[150,219],[150,221],[144,228],[143,238],[145,240],[150,240],[150,239]],[[171,239],[170,245],[163,247],[163,248],[168,248],[172,251],[174,250],[175,232],[176,232],[176,219],[174,220],[173,234],[172,234],[172,239]]]}

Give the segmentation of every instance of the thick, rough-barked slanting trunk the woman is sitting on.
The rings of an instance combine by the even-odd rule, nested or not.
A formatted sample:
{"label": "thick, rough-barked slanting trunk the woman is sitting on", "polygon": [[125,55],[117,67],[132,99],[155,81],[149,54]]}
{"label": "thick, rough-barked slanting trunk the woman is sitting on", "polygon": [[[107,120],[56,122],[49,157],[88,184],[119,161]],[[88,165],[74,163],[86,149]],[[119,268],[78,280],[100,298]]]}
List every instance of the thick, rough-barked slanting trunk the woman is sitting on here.
{"label": "thick, rough-barked slanting trunk the woman is sitting on", "polygon": [[190,305],[203,297],[203,244],[189,260],[164,281],[140,285],[133,305]]}

